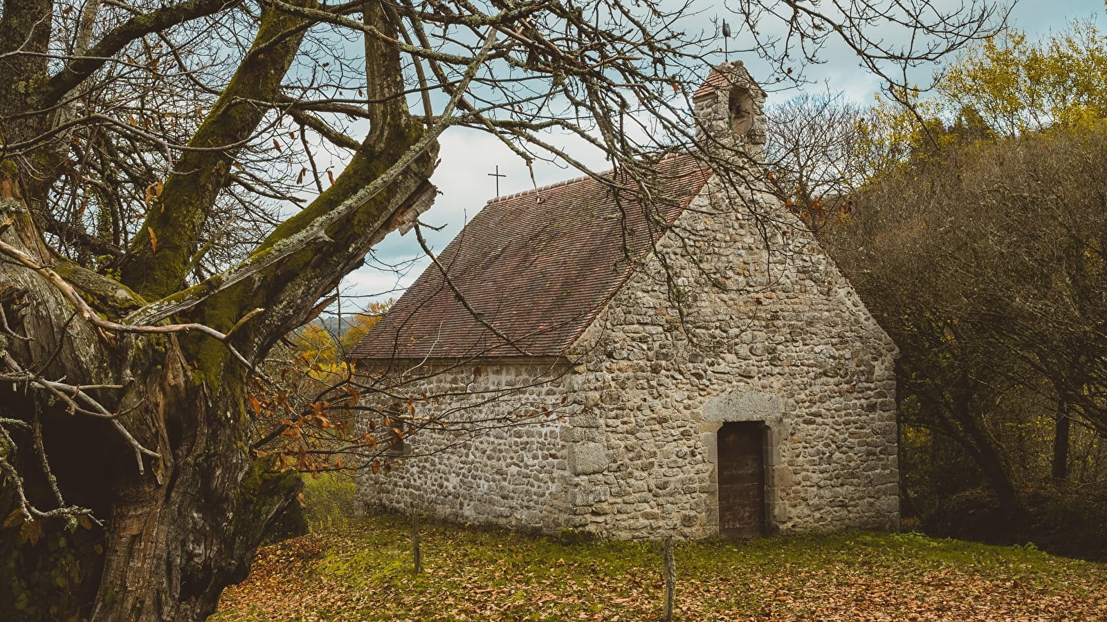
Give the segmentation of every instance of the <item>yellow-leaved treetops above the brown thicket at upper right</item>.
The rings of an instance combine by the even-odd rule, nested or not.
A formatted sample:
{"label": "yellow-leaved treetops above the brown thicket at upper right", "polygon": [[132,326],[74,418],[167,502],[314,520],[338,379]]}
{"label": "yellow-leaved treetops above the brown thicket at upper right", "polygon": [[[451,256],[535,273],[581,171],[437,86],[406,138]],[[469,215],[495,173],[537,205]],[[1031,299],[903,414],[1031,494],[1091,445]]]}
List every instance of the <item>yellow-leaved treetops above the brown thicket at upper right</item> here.
{"label": "yellow-leaved treetops above the brown thicket at upper right", "polygon": [[924,163],[958,144],[1107,118],[1107,34],[1076,20],[1044,39],[1007,31],[965,49],[932,96],[898,87],[858,120],[857,186]]}

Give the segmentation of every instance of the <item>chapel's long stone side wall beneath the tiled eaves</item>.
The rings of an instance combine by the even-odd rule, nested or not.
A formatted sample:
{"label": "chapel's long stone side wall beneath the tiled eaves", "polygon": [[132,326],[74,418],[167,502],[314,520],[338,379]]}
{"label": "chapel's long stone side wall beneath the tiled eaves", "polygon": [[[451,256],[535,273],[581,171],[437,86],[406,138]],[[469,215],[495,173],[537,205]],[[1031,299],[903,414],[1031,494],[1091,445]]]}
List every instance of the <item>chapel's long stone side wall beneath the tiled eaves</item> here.
{"label": "chapel's long stone side wall beneath the tiled eaves", "polygon": [[[397,362],[379,381],[392,396],[363,402],[382,406],[411,398],[424,427],[405,438],[401,452],[382,456],[387,468],[360,471],[359,500],[368,511],[556,531],[569,498],[562,429],[580,408],[561,402],[571,384],[567,371],[560,362]],[[369,415],[359,422],[359,434],[370,432],[371,418],[380,429],[380,416]]]}

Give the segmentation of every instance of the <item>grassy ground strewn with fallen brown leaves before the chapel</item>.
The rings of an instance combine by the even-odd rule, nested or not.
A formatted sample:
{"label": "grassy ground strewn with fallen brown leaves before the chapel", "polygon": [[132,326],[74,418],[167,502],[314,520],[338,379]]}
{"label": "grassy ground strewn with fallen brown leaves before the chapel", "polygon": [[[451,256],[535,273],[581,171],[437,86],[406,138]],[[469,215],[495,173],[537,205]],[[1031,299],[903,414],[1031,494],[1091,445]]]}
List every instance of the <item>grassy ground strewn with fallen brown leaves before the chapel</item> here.
{"label": "grassy ground strewn with fallen brown leaves before the chapel", "polygon": [[[658,542],[559,543],[377,517],[259,551],[218,622],[660,618]],[[676,620],[1107,621],[1107,564],[852,532],[676,545]]]}

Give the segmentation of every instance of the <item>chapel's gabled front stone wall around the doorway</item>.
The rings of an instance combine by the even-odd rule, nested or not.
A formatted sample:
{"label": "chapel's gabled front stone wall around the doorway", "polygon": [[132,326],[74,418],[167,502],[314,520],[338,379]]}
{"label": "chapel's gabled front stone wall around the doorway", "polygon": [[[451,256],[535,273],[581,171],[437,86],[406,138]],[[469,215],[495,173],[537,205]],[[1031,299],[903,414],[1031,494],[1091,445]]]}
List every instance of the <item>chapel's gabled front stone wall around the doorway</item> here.
{"label": "chapel's gabled front stone wall around the doorway", "polygon": [[[751,210],[774,222],[773,252]],[[607,466],[570,474],[569,525],[716,533],[715,433],[756,421],[770,529],[896,527],[896,349],[806,228],[713,180],[659,252],[665,267],[632,277],[576,352],[589,393],[565,435]]]}

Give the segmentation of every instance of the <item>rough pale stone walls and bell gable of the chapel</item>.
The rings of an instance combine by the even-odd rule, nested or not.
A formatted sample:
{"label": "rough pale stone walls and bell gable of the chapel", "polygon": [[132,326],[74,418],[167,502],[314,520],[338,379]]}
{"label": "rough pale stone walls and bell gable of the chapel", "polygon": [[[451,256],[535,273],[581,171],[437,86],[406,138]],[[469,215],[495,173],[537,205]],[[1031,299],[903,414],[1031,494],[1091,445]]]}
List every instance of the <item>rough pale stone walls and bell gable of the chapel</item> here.
{"label": "rough pale stone walls and bell gable of the chapel", "polygon": [[[695,186],[562,351],[410,356],[396,344],[415,338],[390,326],[434,304],[397,302],[405,322],[370,332],[392,350],[366,336],[362,369],[447,425],[405,439],[391,473],[363,470],[366,510],[611,538],[898,526],[897,350],[766,187],[764,97],[738,62],[712,72],[699,148],[733,168]],[[557,189],[571,201],[586,183]],[[527,291],[497,288],[526,310]]]}

